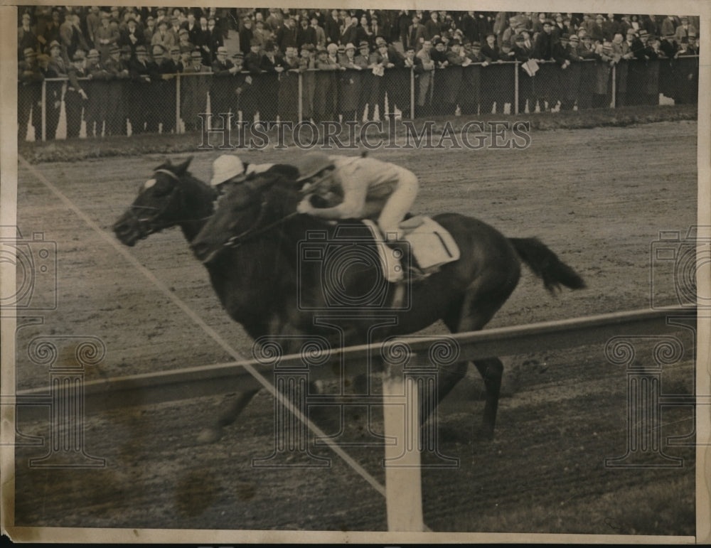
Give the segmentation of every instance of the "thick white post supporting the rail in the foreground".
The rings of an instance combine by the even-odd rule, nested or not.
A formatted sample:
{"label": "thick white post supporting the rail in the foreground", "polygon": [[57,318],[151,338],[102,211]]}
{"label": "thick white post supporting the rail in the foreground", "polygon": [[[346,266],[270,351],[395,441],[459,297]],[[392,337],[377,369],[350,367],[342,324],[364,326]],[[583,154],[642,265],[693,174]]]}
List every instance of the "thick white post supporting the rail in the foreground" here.
{"label": "thick white post supporting the rail in the foreground", "polygon": [[385,504],[387,530],[424,531],[419,455],[417,380],[405,378],[402,364],[386,364],[383,376]]}

